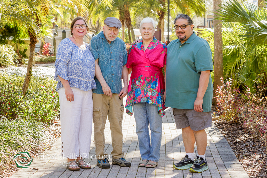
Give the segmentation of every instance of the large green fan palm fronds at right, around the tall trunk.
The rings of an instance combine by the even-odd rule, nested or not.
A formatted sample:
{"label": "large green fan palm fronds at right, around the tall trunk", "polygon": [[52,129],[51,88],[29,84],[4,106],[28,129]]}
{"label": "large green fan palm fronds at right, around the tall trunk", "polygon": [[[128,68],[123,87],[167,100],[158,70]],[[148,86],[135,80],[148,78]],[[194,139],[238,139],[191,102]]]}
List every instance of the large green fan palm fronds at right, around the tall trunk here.
{"label": "large green fan palm fronds at right, around the tall trunk", "polygon": [[[253,80],[264,73],[265,77],[261,77],[267,81],[267,8],[232,1],[218,11],[220,15],[216,19],[222,20],[223,29],[224,77],[232,78],[236,87],[244,84],[254,92]],[[213,29],[199,33],[215,51]]]}

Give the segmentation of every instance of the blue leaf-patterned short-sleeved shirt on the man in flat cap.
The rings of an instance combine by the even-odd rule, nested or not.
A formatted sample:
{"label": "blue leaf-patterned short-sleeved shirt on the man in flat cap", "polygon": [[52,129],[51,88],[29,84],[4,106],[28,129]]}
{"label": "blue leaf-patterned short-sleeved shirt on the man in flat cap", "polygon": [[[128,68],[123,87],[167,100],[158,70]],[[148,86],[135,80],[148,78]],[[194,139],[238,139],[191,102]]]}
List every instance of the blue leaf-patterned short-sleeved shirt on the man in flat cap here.
{"label": "blue leaf-patterned short-sleeved shirt on the man in flat cap", "polygon": [[[120,93],[123,89],[123,66],[127,63],[127,51],[123,40],[117,37],[109,44],[103,31],[101,31],[99,34],[92,37],[90,41],[90,51],[95,60],[98,59],[98,65],[111,92]],[[93,89],[93,93],[104,94],[102,86],[96,77],[95,82],[96,89]]]}

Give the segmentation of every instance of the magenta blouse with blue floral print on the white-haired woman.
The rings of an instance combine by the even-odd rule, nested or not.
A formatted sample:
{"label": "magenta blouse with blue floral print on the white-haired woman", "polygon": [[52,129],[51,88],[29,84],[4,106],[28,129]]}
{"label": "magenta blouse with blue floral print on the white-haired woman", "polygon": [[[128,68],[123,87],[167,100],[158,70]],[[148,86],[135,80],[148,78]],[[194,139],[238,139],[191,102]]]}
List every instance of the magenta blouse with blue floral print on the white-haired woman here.
{"label": "magenta blouse with blue floral print on the white-haired woman", "polygon": [[133,68],[126,100],[129,115],[133,115],[134,103],[149,103],[158,106],[159,115],[164,116],[162,67],[166,65],[166,55],[166,45],[155,37],[146,50],[142,40],[130,47],[126,64],[126,67]]}

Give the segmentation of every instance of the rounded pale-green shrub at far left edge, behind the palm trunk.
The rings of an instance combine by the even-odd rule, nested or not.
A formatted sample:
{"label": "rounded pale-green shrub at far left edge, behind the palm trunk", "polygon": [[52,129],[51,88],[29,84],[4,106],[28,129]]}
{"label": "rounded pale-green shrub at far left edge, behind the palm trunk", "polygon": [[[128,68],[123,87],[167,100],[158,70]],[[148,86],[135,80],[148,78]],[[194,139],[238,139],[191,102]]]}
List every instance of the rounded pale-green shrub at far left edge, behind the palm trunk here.
{"label": "rounded pale-green shrub at far left edge, behind the palm trunk", "polygon": [[0,44],[0,66],[8,67],[14,65],[14,62],[18,63],[18,55],[14,51],[14,47],[11,45]]}

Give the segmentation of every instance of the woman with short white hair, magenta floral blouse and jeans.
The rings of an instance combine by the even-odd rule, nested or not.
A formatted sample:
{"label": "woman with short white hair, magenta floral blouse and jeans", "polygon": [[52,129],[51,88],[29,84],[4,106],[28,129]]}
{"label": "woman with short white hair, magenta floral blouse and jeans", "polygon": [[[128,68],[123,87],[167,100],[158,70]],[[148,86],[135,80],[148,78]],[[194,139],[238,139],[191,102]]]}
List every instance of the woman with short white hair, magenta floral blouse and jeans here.
{"label": "woman with short white hair, magenta floral blouse and jeans", "polygon": [[[126,67],[132,72],[126,101],[127,113],[136,122],[140,167],[156,167],[160,158],[161,127],[164,116],[167,47],[154,37],[155,21],[144,18],[140,24],[142,40],[130,47]],[[151,143],[148,125],[151,131]]]}

